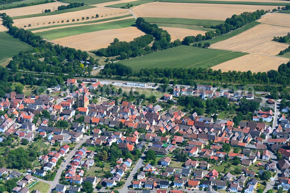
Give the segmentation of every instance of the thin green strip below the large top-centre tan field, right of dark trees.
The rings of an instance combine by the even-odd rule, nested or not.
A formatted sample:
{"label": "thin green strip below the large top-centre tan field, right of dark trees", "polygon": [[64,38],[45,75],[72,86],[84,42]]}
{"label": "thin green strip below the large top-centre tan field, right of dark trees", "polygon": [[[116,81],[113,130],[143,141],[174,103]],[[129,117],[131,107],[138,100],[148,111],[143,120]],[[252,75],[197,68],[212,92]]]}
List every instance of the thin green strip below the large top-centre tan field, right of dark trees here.
{"label": "thin green strip below the large top-centre tan field, right of dark trees", "polygon": [[144,17],[149,23],[183,24],[191,26],[215,26],[223,24],[222,20],[210,19],[186,19],[186,18],[166,18],[166,17]]}

